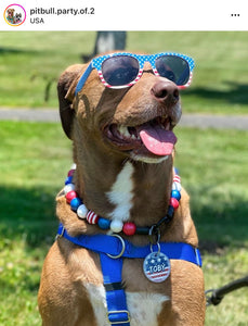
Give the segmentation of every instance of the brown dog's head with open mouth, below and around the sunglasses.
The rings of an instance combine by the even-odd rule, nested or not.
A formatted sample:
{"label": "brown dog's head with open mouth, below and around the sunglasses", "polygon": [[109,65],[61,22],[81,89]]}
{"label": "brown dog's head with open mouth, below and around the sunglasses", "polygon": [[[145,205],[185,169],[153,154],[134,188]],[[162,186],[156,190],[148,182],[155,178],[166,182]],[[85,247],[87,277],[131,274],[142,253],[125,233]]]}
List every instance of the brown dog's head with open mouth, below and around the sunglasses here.
{"label": "brown dog's head with open mouth, below and around the sunglasses", "polygon": [[172,129],[181,117],[179,87],[146,62],[130,87],[106,87],[92,70],[75,93],[87,67],[73,65],[58,82],[66,135],[74,141],[101,143],[106,152],[123,159],[158,163],[171,155],[177,141]]}

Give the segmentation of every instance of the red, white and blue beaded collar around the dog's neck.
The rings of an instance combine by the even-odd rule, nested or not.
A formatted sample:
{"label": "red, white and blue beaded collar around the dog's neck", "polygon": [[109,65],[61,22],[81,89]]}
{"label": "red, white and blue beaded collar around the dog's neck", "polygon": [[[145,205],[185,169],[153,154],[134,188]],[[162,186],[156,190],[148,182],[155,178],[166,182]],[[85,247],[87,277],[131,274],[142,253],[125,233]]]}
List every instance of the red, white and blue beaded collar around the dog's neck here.
{"label": "red, white and blue beaded collar around the dog's neck", "polygon": [[158,236],[159,227],[162,224],[169,223],[174,215],[174,211],[179,208],[179,201],[181,199],[181,178],[174,168],[173,184],[171,190],[171,197],[169,201],[168,211],[165,217],[162,217],[157,224],[152,226],[139,227],[132,222],[122,223],[119,220],[108,220],[99,216],[93,211],[87,209],[82,200],[79,198],[78,193],[75,191],[75,185],[73,183],[74,173],[76,171],[76,164],[69,170],[67,177],[65,179],[64,193],[67,203],[70,209],[77,213],[77,216],[82,220],[87,220],[89,224],[97,225],[102,230],[109,230],[112,233],[118,234],[123,233],[126,236],[133,235],[149,235],[154,234]]}

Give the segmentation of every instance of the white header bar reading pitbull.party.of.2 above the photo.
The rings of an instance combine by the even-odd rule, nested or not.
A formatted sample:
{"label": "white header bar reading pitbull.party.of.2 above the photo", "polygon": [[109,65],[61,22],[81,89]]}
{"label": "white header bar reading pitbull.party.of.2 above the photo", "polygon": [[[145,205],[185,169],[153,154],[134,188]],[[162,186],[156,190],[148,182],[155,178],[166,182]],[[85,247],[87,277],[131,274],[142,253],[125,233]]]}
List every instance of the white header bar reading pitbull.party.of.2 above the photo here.
{"label": "white header bar reading pitbull.party.of.2 above the photo", "polygon": [[247,0],[1,0],[0,30],[248,30]]}

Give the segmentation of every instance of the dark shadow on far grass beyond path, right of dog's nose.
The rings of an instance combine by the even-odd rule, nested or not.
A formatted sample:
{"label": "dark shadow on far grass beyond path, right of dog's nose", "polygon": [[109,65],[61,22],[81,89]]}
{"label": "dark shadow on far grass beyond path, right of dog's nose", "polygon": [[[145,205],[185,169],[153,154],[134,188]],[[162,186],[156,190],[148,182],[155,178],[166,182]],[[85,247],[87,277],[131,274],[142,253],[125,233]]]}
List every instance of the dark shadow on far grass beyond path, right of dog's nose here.
{"label": "dark shadow on far grass beyond path, right of dog's nose", "polygon": [[195,87],[187,89],[184,96],[197,96],[208,100],[220,100],[231,104],[248,103],[248,84],[238,84],[235,82],[223,82],[230,87],[229,90],[218,90],[209,87]]}

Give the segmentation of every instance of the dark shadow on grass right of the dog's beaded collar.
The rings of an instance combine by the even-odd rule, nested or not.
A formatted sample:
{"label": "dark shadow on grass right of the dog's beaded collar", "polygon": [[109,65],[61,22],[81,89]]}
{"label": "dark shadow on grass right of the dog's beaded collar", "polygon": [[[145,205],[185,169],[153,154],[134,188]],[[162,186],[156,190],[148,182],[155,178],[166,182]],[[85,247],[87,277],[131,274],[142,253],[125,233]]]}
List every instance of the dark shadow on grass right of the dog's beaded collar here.
{"label": "dark shadow on grass right of the dog's beaded collar", "polygon": [[[231,199],[224,199],[222,196],[211,191],[208,193],[207,187],[192,193],[191,211],[200,248],[209,253],[220,253],[224,247],[242,248],[248,244],[246,198],[242,197],[242,193],[232,193]],[[206,198],[206,202],[200,202],[200,199]]]}

